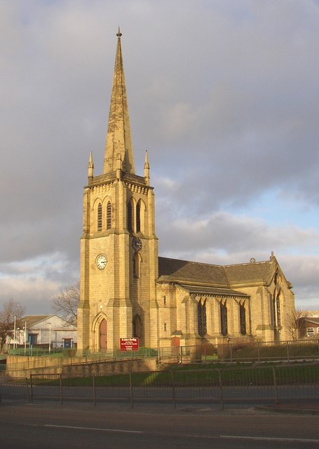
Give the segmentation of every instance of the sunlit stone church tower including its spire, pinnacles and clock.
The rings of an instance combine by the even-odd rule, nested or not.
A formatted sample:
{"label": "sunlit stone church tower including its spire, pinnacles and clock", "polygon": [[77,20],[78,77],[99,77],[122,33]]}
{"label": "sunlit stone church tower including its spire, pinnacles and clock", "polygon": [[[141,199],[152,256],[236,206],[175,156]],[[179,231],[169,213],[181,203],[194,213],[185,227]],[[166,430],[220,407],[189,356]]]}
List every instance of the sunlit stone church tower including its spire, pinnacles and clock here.
{"label": "sunlit stone church tower including its spire, pinnacles and clock", "polygon": [[116,36],[103,173],[94,175],[90,154],[83,194],[79,354],[117,349],[121,337],[158,341],[154,189],[147,153],[144,176],[135,175],[120,29]]}

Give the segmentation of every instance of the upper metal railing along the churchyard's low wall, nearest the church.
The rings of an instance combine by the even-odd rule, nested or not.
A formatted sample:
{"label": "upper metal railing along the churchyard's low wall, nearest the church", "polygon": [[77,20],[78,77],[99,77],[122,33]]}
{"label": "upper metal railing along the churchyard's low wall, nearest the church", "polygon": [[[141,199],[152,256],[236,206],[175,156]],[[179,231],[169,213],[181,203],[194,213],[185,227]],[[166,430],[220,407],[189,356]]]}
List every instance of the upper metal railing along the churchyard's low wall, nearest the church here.
{"label": "upper metal railing along the churchyard's low wall, nearest the church", "polygon": [[[19,348],[18,348],[19,349]],[[17,350],[17,349],[16,349]],[[18,355],[18,354],[17,354]],[[24,355],[24,354],[20,354]],[[0,371],[30,370],[64,364],[95,363],[97,361],[123,361],[132,358],[157,357],[158,363],[228,362],[240,361],[306,361],[319,358],[319,339],[292,340],[286,342],[255,342],[253,340],[229,340],[225,344],[203,343],[201,346],[163,347],[155,349],[141,347],[138,351],[102,351],[79,358],[74,349],[63,349],[60,353],[40,351],[27,360],[15,360],[11,364],[0,364]],[[67,361],[65,360],[67,358]]]}

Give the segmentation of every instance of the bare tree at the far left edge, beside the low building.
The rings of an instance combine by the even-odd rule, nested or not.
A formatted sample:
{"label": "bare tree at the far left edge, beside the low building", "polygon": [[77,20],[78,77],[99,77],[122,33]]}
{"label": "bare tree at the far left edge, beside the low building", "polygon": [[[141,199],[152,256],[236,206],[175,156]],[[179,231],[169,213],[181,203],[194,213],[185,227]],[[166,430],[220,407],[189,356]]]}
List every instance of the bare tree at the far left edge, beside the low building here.
{"label": "bare tree at the far left edge, beside the low building", "polygon": [[22,316],[25,308],[18,302],[8,300],[0,310],[0,349],[4,347],[8,337],[14,337],[14,327],[22,329]]}

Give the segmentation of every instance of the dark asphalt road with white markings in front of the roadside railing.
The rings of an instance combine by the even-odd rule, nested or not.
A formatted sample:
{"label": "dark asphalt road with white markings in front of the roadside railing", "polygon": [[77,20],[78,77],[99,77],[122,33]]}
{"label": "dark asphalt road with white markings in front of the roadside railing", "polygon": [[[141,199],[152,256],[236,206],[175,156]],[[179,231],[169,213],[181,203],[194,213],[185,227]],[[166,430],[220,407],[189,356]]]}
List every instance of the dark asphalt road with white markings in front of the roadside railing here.
{"label": "dark asphalt road with white markings in front of the roadside railing", "polygon": [[0,404],[0,447],[24,449],[319,448],[319,416],[254,410]]}

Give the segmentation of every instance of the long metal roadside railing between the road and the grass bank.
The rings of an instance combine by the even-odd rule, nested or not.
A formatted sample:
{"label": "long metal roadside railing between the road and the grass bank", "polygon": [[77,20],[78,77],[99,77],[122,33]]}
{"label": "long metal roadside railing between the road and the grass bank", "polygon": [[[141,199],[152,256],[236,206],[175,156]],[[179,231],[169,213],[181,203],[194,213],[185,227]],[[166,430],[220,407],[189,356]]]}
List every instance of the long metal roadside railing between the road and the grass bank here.
{"label": "long metal roadside railing between the road and the grass bank", "polygon": [[0,397],[29,402],[53,399],[154,401],[172,403],[278,403],[301,398],[318,400],[319,364],[269,365],[247,368],[162,370],[121,375],[31,375],[30,379],[0,382]]}

